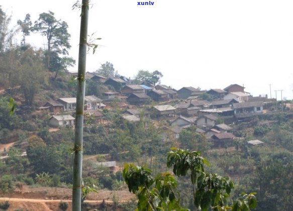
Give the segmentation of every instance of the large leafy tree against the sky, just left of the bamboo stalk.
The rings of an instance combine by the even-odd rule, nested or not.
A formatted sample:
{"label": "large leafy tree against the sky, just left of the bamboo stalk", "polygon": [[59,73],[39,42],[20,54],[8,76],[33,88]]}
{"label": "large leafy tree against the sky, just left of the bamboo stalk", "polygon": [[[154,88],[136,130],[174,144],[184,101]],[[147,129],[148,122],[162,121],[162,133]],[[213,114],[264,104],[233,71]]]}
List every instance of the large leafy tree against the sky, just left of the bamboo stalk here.
{"label": "large leafy tree against the sky, just left of the bamboo stalk", "polygon": [[67,28],[67,23],[56,20],[51,11],[41,13],[32,28],[32,31],[41,33],[47,39],[46,67],[50,71],[56,72],[55,78],[61,69],[66,69],[67,66],[72,66],[75,63],[72,58],[64,56],[68,55],[68,49],[71,47]]}

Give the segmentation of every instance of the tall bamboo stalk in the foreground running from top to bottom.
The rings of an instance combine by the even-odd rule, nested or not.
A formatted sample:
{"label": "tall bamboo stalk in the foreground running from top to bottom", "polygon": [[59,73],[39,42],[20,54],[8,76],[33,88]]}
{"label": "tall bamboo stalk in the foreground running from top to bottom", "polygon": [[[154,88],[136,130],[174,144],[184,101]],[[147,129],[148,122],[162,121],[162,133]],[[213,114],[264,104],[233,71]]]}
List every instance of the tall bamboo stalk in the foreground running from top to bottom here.
{"label": "tall bamboo stalk in the foreground running from top to bottom", "polygon": [[79,53],[78,53],[78,76],[76,95],[76,119],[73,160],[73,188],[72,210],[81,210],[81,173],[82,173],[82,136],[83,136],[83,110],[85,92],[85,66],[87,50],[87,25],[88,25],[88,1],[82,0]]}

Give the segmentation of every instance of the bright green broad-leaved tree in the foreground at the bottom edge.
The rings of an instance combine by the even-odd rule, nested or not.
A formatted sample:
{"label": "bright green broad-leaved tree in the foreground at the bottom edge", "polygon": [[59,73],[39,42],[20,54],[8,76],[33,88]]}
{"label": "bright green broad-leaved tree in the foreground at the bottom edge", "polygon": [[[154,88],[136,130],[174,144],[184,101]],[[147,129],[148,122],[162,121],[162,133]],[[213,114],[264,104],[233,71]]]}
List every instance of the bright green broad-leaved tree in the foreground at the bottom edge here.
{"label": "bright green broad-leaved tree in the foreground at the bottom edge", "polygon": [[[190,172],[192,198],[196,210],[250,210],[256,207],[255,193],[243,194],[233,206],[228,199],[234,183],[229,177],[206,173],[204,164],[208,161],[197,151],[172,148],[167,153],[167,167],[173,168],[176,176]],[[187,210],[180,206],[175,179],[170,173],[158,174],[154,179],[145,167],[125,165],[123,177],[129,191],[137,193],[137,210]],[[232,203],[232,202],[231,202]]]}

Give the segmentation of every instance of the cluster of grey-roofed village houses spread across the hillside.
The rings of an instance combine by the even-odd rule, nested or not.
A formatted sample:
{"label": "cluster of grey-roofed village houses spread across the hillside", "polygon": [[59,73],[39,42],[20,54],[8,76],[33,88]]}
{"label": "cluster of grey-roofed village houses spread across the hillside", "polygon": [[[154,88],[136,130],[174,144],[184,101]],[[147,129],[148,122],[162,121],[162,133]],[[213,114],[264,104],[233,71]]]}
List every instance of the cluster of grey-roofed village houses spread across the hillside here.
{"label": "cluster of grey-roofed village houses spread across the hillside", "polygon": [[[182,129],[194,125],[197,132],[213,140],[215,146],[231,145],[232,140],[237,138],[231,125],[249,122],[257,115],[273,112],[276,103],[276,99],[267,98],[267,95],[251,96],[244,90],[245,87],[238,84],[223,89],[201,90],[188,86],[175,90],[163,84],[155,85],[147,81],[133,84],[125,77],[106,78],[94,72],[87,72],[86,79],[109,86],[112,90],[103,92],[101,98],[85,96],[85,122],[90,117],[91,124],[109,123],[102,111],[112,110],[111,102],[118,100],[123,111],[121,117],[129,122],[138,124],[140,118],[152,122],[167,121],[170,125],[168,130],[176,138]],[[75,106],[75,97],[61,97],[45,102],[38,110],[52,115],[49,120],[51,127],[74,127]],[[168,141],[167,137],[164,138]]]}

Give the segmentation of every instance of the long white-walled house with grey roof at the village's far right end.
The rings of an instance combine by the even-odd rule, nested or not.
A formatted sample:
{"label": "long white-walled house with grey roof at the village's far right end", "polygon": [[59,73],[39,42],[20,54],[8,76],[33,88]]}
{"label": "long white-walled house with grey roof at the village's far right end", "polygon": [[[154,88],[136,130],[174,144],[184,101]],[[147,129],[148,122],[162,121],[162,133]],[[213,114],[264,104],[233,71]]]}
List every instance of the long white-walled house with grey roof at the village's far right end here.
{"label": "long white-walled house with grey roof at the village's far right end", "polygon": [[252,101],[233,103],[234,114],[238,113],[262,113],[263,112],[263,101]]}

